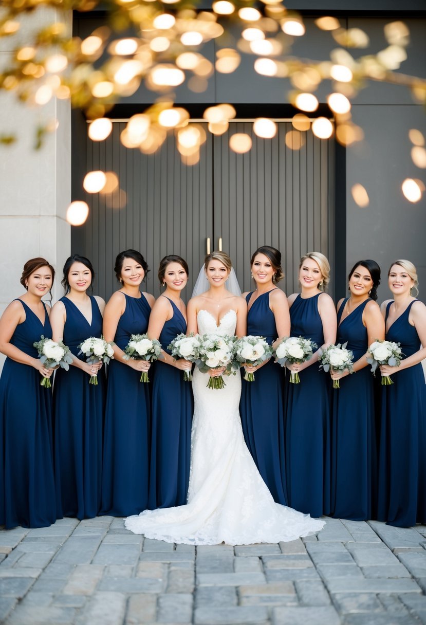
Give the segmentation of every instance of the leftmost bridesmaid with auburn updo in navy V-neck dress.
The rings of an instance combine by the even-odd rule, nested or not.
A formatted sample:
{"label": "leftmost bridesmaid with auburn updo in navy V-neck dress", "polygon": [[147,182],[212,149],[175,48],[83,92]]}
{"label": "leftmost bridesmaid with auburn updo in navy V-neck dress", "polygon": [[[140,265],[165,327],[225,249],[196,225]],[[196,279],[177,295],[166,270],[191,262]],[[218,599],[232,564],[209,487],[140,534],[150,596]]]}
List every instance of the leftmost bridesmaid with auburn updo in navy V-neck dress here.
{"label": "leftmost bridesmaid with auburn updo in navy V-neck dress", "polygon": [[52,336],[49,293],[55,272],[44,258],[22,271],[26,293],[0,319],[0,351],[7,356],[0,378],[0,525],[47,527],[56,521],[52,458],[52,394],[40,386],[52,369],[33,346]]}

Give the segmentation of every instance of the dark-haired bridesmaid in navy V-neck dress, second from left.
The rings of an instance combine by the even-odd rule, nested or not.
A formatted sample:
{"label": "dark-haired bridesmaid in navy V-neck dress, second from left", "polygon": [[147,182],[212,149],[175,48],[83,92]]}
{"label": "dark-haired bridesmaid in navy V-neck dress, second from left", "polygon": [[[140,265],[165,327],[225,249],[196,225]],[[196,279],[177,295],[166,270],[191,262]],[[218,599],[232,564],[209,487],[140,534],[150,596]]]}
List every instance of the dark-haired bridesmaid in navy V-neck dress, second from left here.
{"label": "dark-haired bridesmaid in navy V-neck dress, second from left", "polygon": [[[52,308],[54,341],[64,341],[73,355],[69,371],[58,369],[53,391],[55,423],[56,514],[90,519],[101,506],[102,429],[105,375],[102,363],[89,364],[77,356],[79,345],[102,334],[105,302],[87,295],[94,279],[91,262],[74,254],[64,265],[65,296]],[[98,385],[89,384],[96,372]]]}

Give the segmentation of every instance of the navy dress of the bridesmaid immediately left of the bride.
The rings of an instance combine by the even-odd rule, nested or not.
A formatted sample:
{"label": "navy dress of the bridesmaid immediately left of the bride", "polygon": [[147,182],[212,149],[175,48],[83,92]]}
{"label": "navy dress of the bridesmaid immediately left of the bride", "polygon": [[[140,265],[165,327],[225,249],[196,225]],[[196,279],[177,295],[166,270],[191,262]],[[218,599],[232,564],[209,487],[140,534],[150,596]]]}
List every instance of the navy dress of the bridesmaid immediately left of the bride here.
{"label": "navy dress of the bridesmaid immediately left of the bride", "polygon": [[[167,297],[167,299],[169,299]],[[169,299],[173,316],[162,327],[159,341],[167,346],[183,332],[186,321],[182,312]],[[186,504],[191,459],[191,424],[194,412],[192,384],[184,382],[184,372],[169,364],[156,363],[152,382],[151,470],[148,507],[183,506]]]}

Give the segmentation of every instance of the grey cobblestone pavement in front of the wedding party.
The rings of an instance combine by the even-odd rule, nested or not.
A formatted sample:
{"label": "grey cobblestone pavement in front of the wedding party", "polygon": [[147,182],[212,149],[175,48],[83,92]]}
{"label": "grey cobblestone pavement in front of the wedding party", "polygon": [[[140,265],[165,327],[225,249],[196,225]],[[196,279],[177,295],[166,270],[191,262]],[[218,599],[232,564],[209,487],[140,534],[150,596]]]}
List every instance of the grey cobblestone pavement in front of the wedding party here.
{"label": "grey cobblestone pavement in front of the wedding party", "polygon": [[426,526],[328,519],[294,542],[192,547],[122,519],[0,530],[6,625],[426,624]]}

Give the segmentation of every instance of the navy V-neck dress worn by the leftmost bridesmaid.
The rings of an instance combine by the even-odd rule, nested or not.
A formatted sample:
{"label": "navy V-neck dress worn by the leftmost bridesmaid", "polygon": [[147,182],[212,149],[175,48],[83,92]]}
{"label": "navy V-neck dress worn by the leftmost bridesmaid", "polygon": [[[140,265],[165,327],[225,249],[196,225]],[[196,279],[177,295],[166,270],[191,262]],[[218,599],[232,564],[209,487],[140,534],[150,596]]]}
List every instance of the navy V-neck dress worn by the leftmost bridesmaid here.
{"label": "navy V-neck dress worn by the leftmost bridesmaid", "polygon": [[[44,324],[21,299],[25,321],[11,344],[38,356],[34,341],[52,336],[44,306]],[[6,358],[0,378],[0,525],[11,529],[47,527],[56,521],[52,457],[52,391],[40,385],[40,373]]]}

